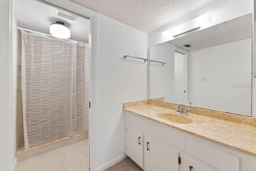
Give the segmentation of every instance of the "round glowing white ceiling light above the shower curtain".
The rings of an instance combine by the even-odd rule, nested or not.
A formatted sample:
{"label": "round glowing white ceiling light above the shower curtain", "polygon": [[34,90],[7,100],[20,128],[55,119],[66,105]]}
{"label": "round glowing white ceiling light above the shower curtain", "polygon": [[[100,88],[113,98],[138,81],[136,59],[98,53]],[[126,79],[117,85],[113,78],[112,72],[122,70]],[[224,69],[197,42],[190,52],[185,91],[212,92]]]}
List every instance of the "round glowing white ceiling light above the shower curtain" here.
{"label": "round glowing white ceiling light above the shower curtain", "polygon": [[50,34],[56,38],[70,38],[70,29],[63,22],[56,22],[50,25]]}

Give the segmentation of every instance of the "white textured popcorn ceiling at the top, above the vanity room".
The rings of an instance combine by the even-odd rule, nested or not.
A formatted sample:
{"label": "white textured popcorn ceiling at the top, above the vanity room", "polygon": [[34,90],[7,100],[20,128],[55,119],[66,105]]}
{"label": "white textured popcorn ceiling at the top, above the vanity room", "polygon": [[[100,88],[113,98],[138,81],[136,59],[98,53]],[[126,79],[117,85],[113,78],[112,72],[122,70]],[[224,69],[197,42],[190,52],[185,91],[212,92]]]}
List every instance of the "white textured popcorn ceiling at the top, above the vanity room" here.
{"label": "white textured popcorn ceiling at the top, above the vanity room", "polygon": [[216,0],[72,0],[150,33]]}

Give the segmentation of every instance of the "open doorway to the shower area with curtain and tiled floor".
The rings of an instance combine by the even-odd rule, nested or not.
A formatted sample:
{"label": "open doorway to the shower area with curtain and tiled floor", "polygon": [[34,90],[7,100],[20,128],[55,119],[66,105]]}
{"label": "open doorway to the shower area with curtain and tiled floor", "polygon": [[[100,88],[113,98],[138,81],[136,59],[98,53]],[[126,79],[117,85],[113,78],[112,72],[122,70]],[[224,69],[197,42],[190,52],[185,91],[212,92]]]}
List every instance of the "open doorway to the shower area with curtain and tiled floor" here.
{"label": "open doorway to the shower area with curtain and tiled floor", "polygon": [[[13,13],[14,16],[12,18],[13,23],[14,23],[14,27],[13,27],[13,33],[14,33],[14,37],[16,36],[16,41],[13,42],[13,44],[16,44],[14,46],[14,48],[16,47],[16,53],[14,53],[14,59],[16,58],[16,158],[18,158],[18,164],[17,164],[17,169],[21,170],[24,169],[22,168],[22,165],[24,165],[24,163],[26,163],[26,161],[29,161],[28,163],[32,163],[32,165],[27,165],[28,167],[27,169],[29,169],[29,167],[31,168],[40,168],[40,167],[56,167],[54,168],[54,170],[58,169],[62,169],[63,168],[68,168],[68,167],[79,167],[74,165],[75,163],[77,165],[87,165],[85,167],[88,167],[89,165],[89,153],[88,153],[88,129],[89,129],[89,99],[90,99],[90,48],[87,48],[89,52],[85,52],[85,51],[81,51],[78,52],[78,49],[82,49],[81,47],[84,46],[80,46],[80,45],[86,45],[88,44],[88,47],[90,47],[89,43],[90,43],[90,18],[86,17],[86,16],[81,16],[79,14],[74,14],[73,12],[70,12],[69,10],[65,10],[63,8],[60,7],[56,7],[56,6],[52,6],[52,4],[46,3],[45,1],[41,0],[41,1],[35,1],[35,0],[13,0]],[[26,10],[24,10],[26,9]],[[53,36],[50,35],[50,31],[49,31],[49,23],[56,23],[56,22],[62,22],[65,24],[65,26],[67,26],[70,31],[71,31],[71,37],[68,38],[68,40],[56,40],[56,38],[53,38]],[[17,29],[18,28],[18,29]],[[28,38],[27,40],[25,40],[24,35],[22,35],[22,32],[24,32],[24,35],[26,36],[37,36],[36,38]],[[80,70],[81,72],[85,72],[85,66],[87,66],[86,68],[86,74],[87,74],[87,81],[85,84],[81,83],[84,82],[84,80],[82,80],[80,83],[82,84],[80,86],[80,88],[82,87],[82,96],[83,96],[83,103],[79,103],[80,100],[76,100],[78,103],[77,105],[75,104],[73,107],[72,105],[70,105],[71,107],[68,108],[75,108],[75,111],[81,111],[83,107],[85,107],[84,111],[81,111],[79,115],[77,115],[77,113],[66,113],[67,109],[64,109],[65,107],[68,106],[68,101],[66,101],[65,103],[63,103],[68,97],[65,95],[65,93],[67,92],[67,90],[69,88],[64,88],[63,91],[59,91],[57,92],[57,89],[60,90],[60,85],[67,85],[66,87],[70,87],[68,85],[68,82],[64,81],[67,78],[63,78],[63,79],[59,79],[62,78],[66,75],[68,75],[66,73],[67,70],[69,70],[70,68],[65,68],[67,67],[66,63],[67,61],[63,61],[64,60],[64,56],[59,56],[57,55],[57,57],[59,56],[62,59],[59,59],[59,61],[57,60],[57,62],[55,64],[60,64],[60,65],[55,65],[54,62],[52,60],[54,60],[54,58],[49,58],[50,61],[46,61],[46,59],[44,58],[44,56],[42,56],[42,60],[40,62],[42,62],[42,64],[47,64],[50,63],[52,68],[48,68],[48,66],[44,66],[44,65],[40,65],[39,61],[37,61],[35,63],[35,66],[32,68],[36,68],[36,70],[38,69],[38,66],[41,67],[41,71],[38,72],[34,78],[29,79],[30,76],[28,76],[29,74],[33,74],[35,73],[35,70],[32,71],[30,73],[26,73],[26,71],[30,70],[31,68],[28,68],[28,63],[31,62],[35,62],[35,58],[32,58],[31,61],[26,61],[28,60],[28,58],[26,58],[26,51],[27,49],[24,48],[24,42],[28,41],[28,40],[37,40],[37,39],[41,39],[41,38],[46,38],[47,40],[42,40],[41,43],[40,42],[36,42],[36,44],[43,44],[42,45],[42,51],[45,50],[45,42],[46,41],[57,41],[58,45],[59,44],[63,44],[65,43],[70,43],[72,42],[75,44],[79,44],[79,47],[76,46],[76,50],[74,50],[74,52],[77,52],[77,54],[84,54],[84,53],[88,53],[88,58],[86,59],[87,63],[83,63],[83,64],[78,64],[76,63],[78,60],[75,61],[76,64],[80,65]],[[15,40],[15,39],[14,39]],[[42,43],[43,42],[43,43]],[[33,42],[34,43],[34,42]],[[55,47],[56,44],[54,44],[54,42],[50,43],[51,45],[53,44],[54,46],[49,45],[49,47],[51,48],[50,51],[55,51],[56,53],[58,53],[58,51],[63,50],[63,48],[59,47],[59,50],[52,50],[52,48]],[[30,44],[31,45],[31,44]],[[28,46],[29,50],[31,46]],[[69,46],[70,47],[70,46]],[[72,46],[73,47],[73,46]],[[38,49],[36,49],[38,50]],[[35,52],[36,50],[32,50],[33,52]],[[49,53],[48,53],[49,54]],[[75,53],[76,54],[76,53]],[[31,56],[36,56],[35,53],[31,54]],[[47,55],[46,55],[47,56]],[[75,55],[77,56],[77,55]],[[25,59],[26,58],[26,59]],[[36,58],[38,58],[38,56],[36,56]],[[70,58],[75,58],[75,57],[70,57]],[[57,58],[56,58],[57,59]],[[56,60],[55,60],[56,61]],[[39,64],[39,65],[38,65]],[[72,60],[72,66],[71,68],[76,65],[73,65],[74,61]],[[25,70],[26,68],[26,70]],[[60,68],[59,71],[58,68]],[[61,68],[63,70],[61,70]],[[47,70],[51,70],[51,71],[56,71],[55,74],[46,74],[45,72]],[[78,70],[78,67],[76,66],[76,70]],[[81,72],[79,72],[80,74],[76,75],[76,79],[78,80],[78,77],[82,77],[84,78],[84,75],[81,74]],[[56,73],[59,73],[59,76],[56,76],[55,78],[46,78],[44,76],[54,76],[56,75]],[[73,71],[71,73],[74,73]],[[78,73],[78,72],[76,72]],[[25,75],[22,77],[22,75]],[[38,76],[38,77],[36,77]],[[24,80],[24,78],[28,78],[28,80]],[[40,79],[42,78],[42,79]],[[58,79],[57,79],[58,78]],[[37,80],[38,79],[38,80]],[[50,82],[52,80],[55,80],[54,82]],[[56,84],[56,80],[58,80]],[[44,85],[41,86],[42,84],[49,82],[48,85],[50,85],[50,87],[54,84],[56,84],[55,87],[58,87],[56,90],[46,90],[45,87],[47,87],[48,85]],[[30,90],[29,87],[26,87],[26,84],[22,84],[22,83],[28,83],[29,85],[33,85],[30,86]],[[74,83],[74,80],[71,80],[70,83]],[[40,84],[40,85],[39,85]],[[39,85],[39,87],[38,87]],[[44,88],[42,88],[44,87]],[[39,89],[39,93],[35,92],[35,89]],[[76,88],[74,88],[76,89]],[[26,93],[24,93],[26,92]],[[28,93],[30,92],[30,93]],[[46,93],[47,95],[43,95],[44,93]],[[48,92],[48,93],[47,93]],[[56,94],[54,94],[56,93]],[[29,96],[31,94],[36,94],[36,96],[32,97]],[[54,97],[57,97],[57,94],[61,95],[62,98],[57,98],[55,99],[56,102],[59,105],[52,105],[52,107],[50,106],[46,106],[45,108],[42,107],[42,103],[44,101],[52,101],[54,99]],[[71,99],[73,99],[74,96],[77,95],[77,92],[72,92],[71,94],[69,94],[69,96],[71,97]],[[42,100],[42,98],[45,98],[47,96],[47,98],[43,101],[40,101],[39,99]],[[78,95],[79,96],[79,95]],[[81,95],[80,95],[81,96]],[[36,97],[36,98],[35,98]],[[48,98],[49,97],[49,98]],[[27,101],[28,98],[32,99],[32,101]],[[37,100],[34,100],[37,99]],[[64,100],[64,101],[63,101]],[[37,103],[37,102],[39,103]],[[49,103],[52,104],[52,103]],[[62,104],[62,105],[61,105]],[[78,107],[78,105],[80,106],[80,108]],[[25,107],[26,109],[24,109]],[[47,111],[48,109],[52,108],[51,110]],[[63,108],[63,109],[61,109]],[[78,109],[79,108],[79,109]],[[38,112],[35,113],[31,113],[31,111],[33,111],[33,109],[38,110]],[[51,113],[50,111],[52,111],[53,113]],[[65,111],[65,112],[64,112]],[[25,114],[26,113],[26,114]],[[57,115],[54,115],[54,113],[58,113]],[[87,113],[87,114],[86,114]],[[31,115],[27,115],[27,114],[31,114]],[[36,115],[38,115],[38,119],[36,119]],[[45,116],[49,116],[44,118]],[[70,117],[69,117],[70,115]],[[64,118],[64,116],[68,116],[68,118]],[[75,117],[74,117],[75,116]],[[86,119],[84,119],[85,117],[87,117],[87,121],[85,121]],[[44,119],[42,119],[44,118]],[[73,118],[70,120],[70,118]],[[80,120],[77,122],[78,118],[83,118],[83,120]],[[61,121],[62,120],[62,121]],[[33,123],[29,123],[29,121],[35,121]],[[69,122],[69,123],[68,123]],[[86,123],[87,122],[87,123]],[[24,125],[23,125],[24,123]],[[48,124],[49,123],[49,124]],[[50,124],[51,123],[51,124]],[[81,125],[80,128],[78,127],[74,127],[77,125]],[[64,133],[64,131],[62,131],[63,129],[61,128],[63,126],[63,129],[67,129],[71,128],[73,131],[68,131],[68,133]],[[45,130],[45,131],[43,131]],[[58,131],[60,130],[60,131]],[[75,130],[75,131],[74,131]],[[77,131],[78,130],[78,131]],[[33,132],[34,131],[34,132]],[[32,141],[35,140],[35,141]],[[68,149],[72,149],[72,150],[68,150]],[[30,152],[30,155],[28,154],[28,150]],[[33,151],[34,150],[34,151]],[[87,151],[86,151],[87,150]],[[81,152],[81,153],[79,153]],[[25,155],[22,155],[22,153],[24,153]],[[78,154],[79,153],[79,154]],[[54,163],[53,161],[58,161],[57,158],[48,158],[46,156],[56,156],[56,154],[58,154],[58,157],[63,157],[63,159],[68,159],[68,161],[64,162],[64,163]],[[62,154],[62,155],[60,155]],[[72,157],[72,155],[74,157]],[[43,156],[43,157],[42,157]],[[78,157],[80,156],[80,157]],[[41,157],[41,158],[40,158]],[[76,161],[72,161],[72,158],[77,158]],[[31,162],[33,161],[34,162]],[[87,160],[87,161],[86,161]],[[65,161],[65,160],[63,160]],[[84,162],[86,161],[86,162]],[[53,163],[52,163],[53,162]],[[23,164],[21,164],[23,163]],[[42,163],[44,163],[42,165]],[[45,164],[48,163],[48,166],[46,166]],[[21,167],[21,168],[19,168]]]}

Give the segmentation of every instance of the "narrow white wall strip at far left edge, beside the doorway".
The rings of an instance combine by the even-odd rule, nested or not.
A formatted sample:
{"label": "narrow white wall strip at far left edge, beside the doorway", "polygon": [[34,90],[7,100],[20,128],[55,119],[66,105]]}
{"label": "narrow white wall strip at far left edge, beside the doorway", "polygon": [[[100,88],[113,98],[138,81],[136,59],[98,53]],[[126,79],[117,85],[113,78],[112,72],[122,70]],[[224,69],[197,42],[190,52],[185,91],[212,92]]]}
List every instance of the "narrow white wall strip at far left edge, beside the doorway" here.
{"label": "narrow white wall strip at far left edge, beside the doorway", "polygon": [[[0,170],[9,171],[12,169],[11,161],[11,132],[10,132],[10,33],[11,33],[11,0],[0,1]],[[15,132],[14,132],[15,134]]]}

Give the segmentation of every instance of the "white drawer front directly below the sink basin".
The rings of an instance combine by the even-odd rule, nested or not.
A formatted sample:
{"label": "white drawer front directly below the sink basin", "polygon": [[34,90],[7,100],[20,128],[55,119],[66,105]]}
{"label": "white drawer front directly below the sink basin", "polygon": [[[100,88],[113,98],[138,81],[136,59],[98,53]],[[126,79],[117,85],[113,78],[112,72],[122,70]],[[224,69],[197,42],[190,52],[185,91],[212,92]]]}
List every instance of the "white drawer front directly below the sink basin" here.
{"label": "white drawer front directly below the sink basin", "polygon": [[143,130],[154,137],[165,141],[166,143],[173,145],[183,151],[185,151],[185,136],[160,127],[158,125],[143,121]]}

